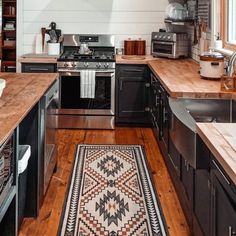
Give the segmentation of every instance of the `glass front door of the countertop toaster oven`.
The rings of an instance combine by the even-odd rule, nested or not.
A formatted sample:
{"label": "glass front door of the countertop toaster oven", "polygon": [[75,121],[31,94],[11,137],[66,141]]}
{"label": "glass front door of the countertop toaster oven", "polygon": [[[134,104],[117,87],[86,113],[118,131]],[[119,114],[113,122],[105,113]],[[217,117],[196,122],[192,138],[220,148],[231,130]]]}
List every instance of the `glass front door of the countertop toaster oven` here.
{"label": "glass front door of the countertop toaster oven", "polygon": [[175,54],[175,43],[165,41],[152,41],[152,55],[173,58]]}

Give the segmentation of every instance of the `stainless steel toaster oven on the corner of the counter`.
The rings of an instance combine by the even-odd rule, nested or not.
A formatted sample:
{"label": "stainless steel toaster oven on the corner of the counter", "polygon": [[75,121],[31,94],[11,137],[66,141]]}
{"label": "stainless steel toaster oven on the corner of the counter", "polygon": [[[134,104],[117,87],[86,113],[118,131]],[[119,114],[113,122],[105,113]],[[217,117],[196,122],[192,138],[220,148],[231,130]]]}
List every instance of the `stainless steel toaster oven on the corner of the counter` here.
{"label": "stainless steel toaster oven on the corner of the counter", "polygon": [[152,32],[151,54],[154,57],[188,57],[188,35],[186,33]]}

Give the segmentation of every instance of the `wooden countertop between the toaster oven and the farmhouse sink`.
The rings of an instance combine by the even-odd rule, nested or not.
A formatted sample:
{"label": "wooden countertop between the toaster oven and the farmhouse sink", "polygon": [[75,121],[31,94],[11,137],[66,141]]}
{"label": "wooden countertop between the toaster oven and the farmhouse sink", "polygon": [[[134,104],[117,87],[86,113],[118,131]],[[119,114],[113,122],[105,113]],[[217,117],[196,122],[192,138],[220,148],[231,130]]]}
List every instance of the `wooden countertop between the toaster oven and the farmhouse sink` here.
{"label": "wooden countertop between the toaster oven and the farmhouse sink", "polygon": [[202,79],[198,72],[199,64],[192,59],[161,58],[149,61],[148,64],[171,97],[232,98],[235,96],[235,93],[221,90],[220,80]]}

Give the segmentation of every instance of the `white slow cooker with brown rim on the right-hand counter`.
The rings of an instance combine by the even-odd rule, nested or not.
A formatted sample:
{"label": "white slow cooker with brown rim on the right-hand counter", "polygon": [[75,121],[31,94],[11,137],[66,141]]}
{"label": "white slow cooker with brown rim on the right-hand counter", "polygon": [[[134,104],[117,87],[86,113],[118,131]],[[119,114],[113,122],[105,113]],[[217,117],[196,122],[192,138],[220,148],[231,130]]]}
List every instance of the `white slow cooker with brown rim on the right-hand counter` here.
{"label": "white slow cooker with brown rim on the right-hand counter", "polygon": [[224,74],[224,56],[218,52],[200,55],[200,75],[206,79],[220,79]]}

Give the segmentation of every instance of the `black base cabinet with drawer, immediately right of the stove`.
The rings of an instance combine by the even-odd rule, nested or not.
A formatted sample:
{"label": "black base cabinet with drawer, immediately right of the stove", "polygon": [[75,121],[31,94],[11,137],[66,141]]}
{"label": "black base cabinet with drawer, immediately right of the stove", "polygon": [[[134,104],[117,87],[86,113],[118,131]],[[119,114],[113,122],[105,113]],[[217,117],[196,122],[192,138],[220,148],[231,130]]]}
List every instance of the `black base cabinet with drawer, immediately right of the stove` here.
{"label": "black base cabinet with drawer, immediately right of the stove", "polygon": [[150,77],[145,65],[117,65],[116,123],[148,124]]}

